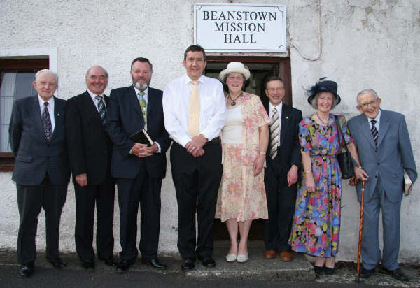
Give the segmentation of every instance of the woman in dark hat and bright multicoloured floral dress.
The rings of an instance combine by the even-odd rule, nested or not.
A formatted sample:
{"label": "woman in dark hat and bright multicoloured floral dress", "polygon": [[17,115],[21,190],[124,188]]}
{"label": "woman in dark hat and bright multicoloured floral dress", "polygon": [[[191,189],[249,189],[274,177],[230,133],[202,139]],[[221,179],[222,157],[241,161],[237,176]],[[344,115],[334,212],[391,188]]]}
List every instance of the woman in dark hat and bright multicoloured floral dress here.
{"label": "woman in dark hat and bright multicoloured floral dress", "polygon": [[334,273],[338,252],[342,193],[341,171],[336,157],[340,139],[335,117],[351,157],[358,164],[354,168],[356,178],[365,172],[360,167],[356,145],[347,129],[345,117],[330,114],[330,110],[341,100],[337,94],[337,83],[321,80],[323,78],[311,87],[308,98],[316,113],[299,124],[304,173],[297,192],[289,244],[296,252],[316,257],[316,274],[324,271],[330,275]]}

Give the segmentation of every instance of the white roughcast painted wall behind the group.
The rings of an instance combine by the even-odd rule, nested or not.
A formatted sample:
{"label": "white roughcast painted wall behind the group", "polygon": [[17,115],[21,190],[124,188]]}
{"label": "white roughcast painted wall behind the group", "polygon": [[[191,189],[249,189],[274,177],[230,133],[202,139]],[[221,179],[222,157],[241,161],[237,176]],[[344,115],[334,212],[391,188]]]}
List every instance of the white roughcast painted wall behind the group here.
{"label": "white roughcast painted wall behind the group", "polygon": [[[57,48],[57,96],[62,99],[85,90],[85,72],[95,64],[109,71],[106,94],[113,88],[130,85],[130,62],[135,57],[151,60],[154,64],[151,86],[163,89],[169,80],[185,71],[183,51],[193,43],[193,3],[190,0],[92,0],[88,3],[0,0],[0,57],[13,57],[24,48]],[[405,114],[414,157],[419,163],[420,127],[416,125],[419,101],[416,97],[420,94],[420,78],[416,74],[420,59],[416,48],[420,47],[420,1],[285,0],[281,4],[286,5],[287,13],[293,105],[301,109],[303,115],[313,113],[303,87],[309,88],[318,78],[327,75],[338,82],[338,93],[342,96],[342,103],[334,112],[344,113],[349,118],[358,114],[357,92],[367,87],[375,89],[382,99],[382,108]],[[344,182],[338,259],[348,261],[356,259],[359,204],[353,187]],[[11,173],[0,173],[0,187],[0,249],[14,250],[19,215]],[[418,187],[414,185],[412,195],[402,201],[399,261],[420,261]],[[117,201],[118,197],[114,217],[116,252],[120,251]],[[74,210],[73,184],[69,184],[60,233],[60,249],[66,252],[75,250]],[[177,215],[168,164],[167,178],[162,185],[161,253],[178,255]],[[37,246],[44,249],[43,213],[38,223]]]}

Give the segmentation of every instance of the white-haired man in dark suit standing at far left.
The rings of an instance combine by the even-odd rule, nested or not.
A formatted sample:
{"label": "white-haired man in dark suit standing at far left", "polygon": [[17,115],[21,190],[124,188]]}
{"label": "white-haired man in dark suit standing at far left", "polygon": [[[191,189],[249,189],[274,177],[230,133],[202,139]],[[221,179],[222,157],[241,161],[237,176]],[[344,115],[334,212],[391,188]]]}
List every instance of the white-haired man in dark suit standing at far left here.
{"label": "white-haired man in dark suit standing at far left", "polygon": [[12,180],[16,182],[19,208],[19,275],[34,272],[36,227],[45,211],[46,257],[55,268],[66,264],[58,251],[59,221],[66,202],[70,168],[66,151],[66,101],[57,99],[58,75],[48,69],[35,75],[38,95],[13,104],[9,127],[10,147],[15,155]]}

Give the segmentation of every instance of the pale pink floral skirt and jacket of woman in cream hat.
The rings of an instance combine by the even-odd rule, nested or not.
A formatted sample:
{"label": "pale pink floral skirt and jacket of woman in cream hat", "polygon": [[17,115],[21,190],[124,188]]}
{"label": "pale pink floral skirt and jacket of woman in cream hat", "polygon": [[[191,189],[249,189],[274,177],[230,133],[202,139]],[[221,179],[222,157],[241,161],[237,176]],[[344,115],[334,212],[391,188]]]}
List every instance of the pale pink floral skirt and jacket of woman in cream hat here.
{"label": "pale pink floral skirt and jacket of woman in cream hat", "polygon": [[[241,104],[241,143],[223,143],[223,175],[218,192],[216,218],[225,222],[268,219],[264,170],[253,176],[253,162],[258,157],[258,128],[269,124],[260,97],[244,92]],[[223,130],[221,134],[223,140]]]}

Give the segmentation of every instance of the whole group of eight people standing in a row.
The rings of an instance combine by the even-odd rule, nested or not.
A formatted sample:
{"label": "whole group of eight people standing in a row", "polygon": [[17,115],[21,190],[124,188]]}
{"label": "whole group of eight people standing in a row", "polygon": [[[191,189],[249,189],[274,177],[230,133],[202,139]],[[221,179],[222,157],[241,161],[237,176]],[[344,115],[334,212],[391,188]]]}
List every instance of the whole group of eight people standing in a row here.
{"label": "whole group of eight people standing in a row", "polygon": [[[284,81],[265,82],[266,103],[245,92],[249,69],[231,62],[219,80],[203,75],[206,53],[189,46],[186,75],[164,91],[150,87],[153,65],[146,58],[131,64],[132,85],[104,95],[108,73],[92,66],[87,90],[68,101],[53,96],[58,76],[36,73],[38,95],[15,101],[10,147],[15,154],[13,180],[18,192],[19,275],[34,271],[36,226],[45,210],[46,257],[63,268],[59,257],[59,220],[70,171],[76,196],[76,252],[81,266],[94,269],[93,226],[97,207],[97,257],[118,272],[136,261],[154,268],[158,259],[160,190],[170,161],[178,203],[178,248],[184,271],[197,259],[213,268],[214,218],[226,223],[228,262],[248,261],[248,233],[254,219],[266,219],[266,259],[292,251],[316,257],[316,274],[334,273],[338,252],[342,177],[337,153],[346,145],[355,178],[365,185],[361,276],[382,265],[399,280],[400,205],[405,171],[416,180],[416,166],[405,117],[381,110],[372,89],[357,95],[360,115],[347,124],[330,113],[340,102],[337,83],[321,78],[309,90],[316,113],[303,119],[283,103]],[[223,92],[225,90],[225,93]],[[379,129],[380,125],[380,129]],[[136,143],[144,129],[152,143]],[[120,208],[120,261],[113,259],[115,185]],[[360,182],[357,185],[360,200]],[[137,249],[137,215],[141,240]],[[384,254],[379,250],[379,211],[384,225]],[[197,230],[196,219],[197,215]],[[198,234],[198,235],[197,235]],[[239,240],[238,240],[239,234]]]}

